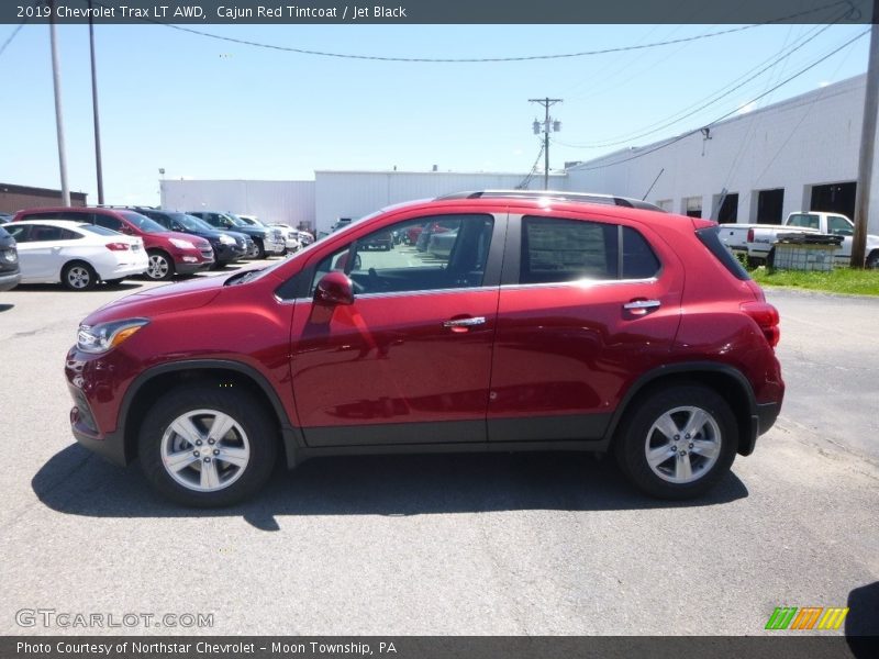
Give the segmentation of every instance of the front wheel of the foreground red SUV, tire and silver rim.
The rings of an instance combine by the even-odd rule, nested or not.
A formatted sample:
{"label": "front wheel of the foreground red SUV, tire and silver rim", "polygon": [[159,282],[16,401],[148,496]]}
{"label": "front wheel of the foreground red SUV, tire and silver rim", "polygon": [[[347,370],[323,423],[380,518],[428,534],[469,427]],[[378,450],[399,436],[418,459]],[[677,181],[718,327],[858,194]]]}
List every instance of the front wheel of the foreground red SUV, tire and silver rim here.
{"label": "front wheel of the foreground red SUV, tire and silver rim", "polygon": [[[218,414],[227,415],[234,425],[222,437],[213,438],[210,433]],[[193,443],[171,429],[180,418],[190,420],[189,427],[198,431]],[[194,507],[236,504],[259,490],[271,474],[278,453],[278,433],[269,420],[270,412],[237,388],[202,383],[171,390],[156,401],[141,425],[141,467],[149,483],[176,503]],[[198,442],[203,444],[196,446]],[[187,466],[177,470],[166,468],[163,447],[166,455],[187,460]],[[240,460],[246,451],[245,463],[238,466],[215,457],[224,451],[238,451],[236,459]],[[233,457],[231,453],[230,457]],[[213,463],[214,489],[210,489],[210,481],[207,487],[204,484],[203,462]],[[171,476],[171,471],[177,476]]]}

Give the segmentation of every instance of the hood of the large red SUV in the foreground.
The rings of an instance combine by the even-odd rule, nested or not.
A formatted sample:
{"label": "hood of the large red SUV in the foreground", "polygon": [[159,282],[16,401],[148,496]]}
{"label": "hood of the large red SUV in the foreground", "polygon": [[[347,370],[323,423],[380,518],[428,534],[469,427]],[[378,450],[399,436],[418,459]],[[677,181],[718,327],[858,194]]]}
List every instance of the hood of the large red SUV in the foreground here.
{"label": "hood of the large red SUV in the foreground", "polygon": [[86,325],[132,317],[155,317],[165,313],[197,309],[213,300],[229,277],[202,277],[137,291],[90,313]]}

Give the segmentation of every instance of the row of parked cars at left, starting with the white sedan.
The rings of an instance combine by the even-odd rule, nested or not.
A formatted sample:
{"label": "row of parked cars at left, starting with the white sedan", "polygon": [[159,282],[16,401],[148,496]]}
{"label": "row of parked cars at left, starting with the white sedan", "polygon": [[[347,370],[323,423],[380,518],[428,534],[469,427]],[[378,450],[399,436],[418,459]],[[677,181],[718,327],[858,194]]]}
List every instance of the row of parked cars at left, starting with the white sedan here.
{"label": "row of parked cars at left, starting with the white sedan", "polygon": [[[249,225],[232,213],[151,206],[27,209],[4,214],[0,225],[0,291],[57,282],[89,290],[136,276],[162,281],[244,258],[282,255],[291,247],[281,227]],[[298,250],[304,232],[292,231],[292,250]]]}

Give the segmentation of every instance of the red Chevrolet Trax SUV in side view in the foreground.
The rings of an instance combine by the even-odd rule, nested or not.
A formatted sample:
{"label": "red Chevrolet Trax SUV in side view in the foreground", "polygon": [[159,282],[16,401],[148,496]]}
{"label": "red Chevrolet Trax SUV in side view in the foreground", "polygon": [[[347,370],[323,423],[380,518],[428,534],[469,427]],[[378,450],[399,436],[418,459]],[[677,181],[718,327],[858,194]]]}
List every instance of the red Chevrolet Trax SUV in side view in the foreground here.
{"label": "red Chevrolet Trax SUV in side view in the foreground", "polygon": [[[778,313],[714,222],[645,206],[461,193],[129,295],[67,356],[74,435],[196,506],[278,458],[392,451],[613,451],[643,491],[698,495],[778,416]],[[432,222],[442,256],[368,249]]]}

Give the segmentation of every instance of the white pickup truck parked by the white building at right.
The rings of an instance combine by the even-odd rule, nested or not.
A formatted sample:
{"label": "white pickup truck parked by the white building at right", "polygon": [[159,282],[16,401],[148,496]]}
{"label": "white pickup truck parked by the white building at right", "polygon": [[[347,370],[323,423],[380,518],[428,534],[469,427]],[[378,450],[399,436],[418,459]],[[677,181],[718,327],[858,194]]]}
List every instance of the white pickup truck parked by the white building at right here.
{"label": "white pickup truck parked by the white building at right", "polygon": [[[735,255],[747,258],[748,266],[765,264],[779,234],[823,233],[843,236],[835,254],[836,265],[847,266],[852,258],[852,236],[855,224],[838,213],[800,211],[791,213],[783,224],[721,224],[721,239]],[[867,235],[866,265],[879,268],[879,236]]]}

